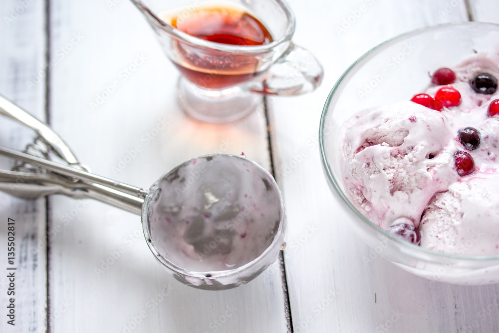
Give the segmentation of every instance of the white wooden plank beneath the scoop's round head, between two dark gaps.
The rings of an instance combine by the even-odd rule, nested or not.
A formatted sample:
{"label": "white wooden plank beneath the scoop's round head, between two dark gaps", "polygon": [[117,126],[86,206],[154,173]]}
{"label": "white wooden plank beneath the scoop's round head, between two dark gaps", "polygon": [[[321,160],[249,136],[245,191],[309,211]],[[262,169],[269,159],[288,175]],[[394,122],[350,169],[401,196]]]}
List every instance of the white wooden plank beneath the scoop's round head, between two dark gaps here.
{"label": "white wooden plank beneath the scoop's round head, between two dark gaps", "polygon": [[[178,73],[153,31],[130,1],[117,2],[111,8],[104,1],[51,2],[52,53],[75,34],[81,39],[54,68],[50,100],[53,127],[81,161],[144,188],[214,151],[244,152],[268,168],[261,110],[231,125],[188,119],[176,103]],[[139,56],[143,63],[124,79],[122,71]],[[89,103],[114,80],[120,86],[92,110]],[[234,290],[196,290],[159,266],[138,216],[91,201],[51,203],[54,227],[60,226],[51,243],[51,314],[64,310],[52,318],[52,332],[286,331],[278,269]]]}

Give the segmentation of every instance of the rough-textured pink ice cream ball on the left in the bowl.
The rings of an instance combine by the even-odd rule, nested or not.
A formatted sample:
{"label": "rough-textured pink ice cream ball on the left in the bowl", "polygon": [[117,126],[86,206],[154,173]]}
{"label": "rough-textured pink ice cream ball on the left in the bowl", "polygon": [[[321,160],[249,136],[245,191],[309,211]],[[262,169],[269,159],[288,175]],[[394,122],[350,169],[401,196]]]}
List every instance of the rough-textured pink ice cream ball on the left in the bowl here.
{"label": "rough-textured pink ice cream ball on the left in the bowl", "polygon": [[418,227],[433,195],[460,178],[447,123],[441,112],[408,101],[366,111],[345,125],[343,176],[370,221],[387,229],[407,217]]}

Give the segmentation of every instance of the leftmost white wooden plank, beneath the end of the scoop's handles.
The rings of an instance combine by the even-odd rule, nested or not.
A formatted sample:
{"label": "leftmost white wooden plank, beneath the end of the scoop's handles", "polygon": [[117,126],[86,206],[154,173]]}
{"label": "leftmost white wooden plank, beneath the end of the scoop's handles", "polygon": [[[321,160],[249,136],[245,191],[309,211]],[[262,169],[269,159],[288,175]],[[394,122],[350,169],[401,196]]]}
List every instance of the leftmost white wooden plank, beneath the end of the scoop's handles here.
{"label": "leftmost white wooden plank, beneath the end of the scoop's handles", "polygon": [[[0,17],[0,94],[44,119],[43,2],[2,1]],[[0,117],[0,128],[0,144],[14,149],[24,149],[34,137],[33,131],[4,117]],[[11,166],[11,160],[0,160],[0,168]],[[15,227],[13,265],[7,262],[9,218]],[[45,200],[25,201],[0,193],[0,225],[0,331],[45,332]],[[14,274],[13,290],[7,279],[10,273]],[[6,317],[10,298],[14,298],[14,326]]]}

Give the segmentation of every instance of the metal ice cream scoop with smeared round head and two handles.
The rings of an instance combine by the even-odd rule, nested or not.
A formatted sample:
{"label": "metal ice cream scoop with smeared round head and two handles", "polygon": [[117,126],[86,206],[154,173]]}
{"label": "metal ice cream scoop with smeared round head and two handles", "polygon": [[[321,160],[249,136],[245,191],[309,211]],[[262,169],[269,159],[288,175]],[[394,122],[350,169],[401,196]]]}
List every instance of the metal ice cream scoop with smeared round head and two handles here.
{"label": "metal ice cream scoop with smeared round head and two handles", "polygon": [[[27,115],[1,97],[0,113],[19,121]],[[42,152],[37,157],[0,147],[0,155],[18,161],[16,170],[0,170],[0,191],[28,199],[49,194],[92,198],[140,214],[151,252],[180,282],[206,290],[240,286],[273,263],[285,246],[277,184],[245,157],[194,158],[146,191],[86,171],[58,135],[29,117],[30,122],[21,122],[37,131],[46,149],[35,149]],[[67,165],[48,159],[54,156]]]}

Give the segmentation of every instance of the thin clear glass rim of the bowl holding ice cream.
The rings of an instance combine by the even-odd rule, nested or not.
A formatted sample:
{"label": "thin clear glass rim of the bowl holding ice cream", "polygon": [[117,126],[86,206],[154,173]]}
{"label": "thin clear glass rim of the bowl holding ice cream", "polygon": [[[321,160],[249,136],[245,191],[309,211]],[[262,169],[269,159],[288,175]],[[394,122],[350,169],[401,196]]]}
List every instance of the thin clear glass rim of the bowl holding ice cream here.
{"label": "thin clear glass rim of the bowl holding ice cream", "polygon": [[[329,165],[329,162],[326,158],[326,149],[325,149],[325,135],[324,135],[324,126],[326,122],[326,117],[328,116],[328,108],[331,103],[331,100],[333,96],[335,95],[336,90],[339,89],[339,87],[343,84],[344,79],[346,78],[347,75],[350,74],[350,72],[354,69],[357,68],[357,65],[362,64],[363,62],[366,62],[369,60],[369,56],[377,51],[378,49],[382,49],[384,46],[389,46],[391,44],[397,43],[399,41],[402,41],[408,37],[412,37],[421,33],[427,33],[431,32],[433,30],[439,30],[441,28],[448,28],[452,26],[466,26],[466,25],[490,25],[494,26],[495,29],[499,31],[499,24],[497,23],[489,23],[489,22],[475,22],[475,21],[465,21],[465,22],[453,22],[453,23],[443,23],[443,24],[437,24],[437,25],[431,25],[431,26],[425,26],[421,28],[417,28],[415,30],[411,30],[409,32],[404,32],[402,34],[396,35],[392,38],[389,38],[385,40],[384,42],[374,46],[371,48],[369,51],[364,53],[362,56],[360,56],[357,60],[355,60],[344,72],[341,74],[341,76],[338,78],[336,83],[334,84],[333,88],[329,92],[326,101],[324,103],[324,106],[322,108],[322,114],[320,117],[320,123],[319,123],[319,150],[320,150],[320,159],[322,163],[322,167],[327,175],[328,181],[336,191],[336,194],[338,194],[338,197],[341,199],[342,203],[345,204],[348,209],[350,209],[351,212],[353,212],[357,218],[362,221],[363,225],[366,225],[368,228],[373,228],[377,233],[381,234],[384,237],[389,238],[392,242],[395,242],[398,246],[403,246],[403,247],[408,247],[409,249],[413,249],[414,251],[420,251],[426,255],[430,255],[433,258],[439,258],[439,259],[460,259],[460,260],[469,260],[469,261],[490,261],[490,260],[499,260],[499,255],[486,255],[486,256],[463,256],[463,255],[456,255],[456,254],[449,254],[449,253],[443,253],[443,252],[438,252],[438,251],[433,251],[429,250],[426,248],[422,248],[420,246],[408,243],[406,241],[401,240],[398,237],[395,237],[391,235],[390,233],[386,232],[385,230],[381,229],[374,223],[370,222],[362,213],[360,213],[348,200],[346,195],[343,193],[343,191],[340,189],[339,182],[336,180],[334,175],[332,174],[331,167]],[[333,111],[331,111],[333,112]],[[412,255],[412,254],[411,254]]]}

